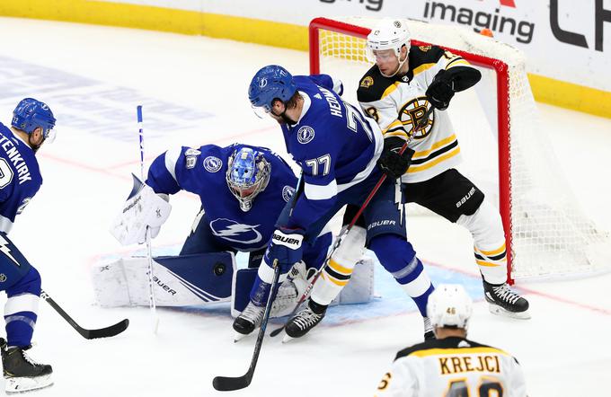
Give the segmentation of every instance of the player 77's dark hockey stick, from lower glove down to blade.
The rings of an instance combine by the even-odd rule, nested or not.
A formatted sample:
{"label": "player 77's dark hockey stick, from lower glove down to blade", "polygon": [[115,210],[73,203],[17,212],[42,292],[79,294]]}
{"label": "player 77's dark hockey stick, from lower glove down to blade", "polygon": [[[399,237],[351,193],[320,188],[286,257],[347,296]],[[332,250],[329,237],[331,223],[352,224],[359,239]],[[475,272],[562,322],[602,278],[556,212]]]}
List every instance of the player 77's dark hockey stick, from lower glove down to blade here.
{"label": "player 77's dark hockey stick, from lower glove down to blade", "polygon": [[271,311],[271,299],[275,295],[276,288],[278,288],[278,281],[280,278],[280,266],[278,260],[274,260],[274,278],[271,282],[270,296],[268,296],[267,304],[265,304],[265,313],[263,313],[263,320],[261,321],[261,328],[257,335],[257,341],[254,343],[254,352],[252,353],[251,366],[249,366],[246,374],[237,377],[231,376],[216,376],[212,380],[212,386],[219,392],[231,392],[234,390],[244,389],[248,387],[252,382],[252,375],[254,375],[254,368],[257,366],[259,360],[259,353],[261,352],[261,345],[263,344],[263,338],[265,337],[265,329],[267,328],[268,320],[270,320]]}

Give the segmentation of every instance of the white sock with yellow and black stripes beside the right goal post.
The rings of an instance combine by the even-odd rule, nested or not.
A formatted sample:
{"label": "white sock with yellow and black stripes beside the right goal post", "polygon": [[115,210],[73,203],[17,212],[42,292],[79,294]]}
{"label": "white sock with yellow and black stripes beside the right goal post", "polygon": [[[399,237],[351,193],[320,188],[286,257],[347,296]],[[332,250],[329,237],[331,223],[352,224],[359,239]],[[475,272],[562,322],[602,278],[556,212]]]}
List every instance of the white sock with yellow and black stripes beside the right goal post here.
{"label": "white sock with yellow and black stripes beside the right goal post", "polygon": [[483,200],[473,215],[463,215],[456,221],[474,238],[474,255],[483,279],[490,284],[507,281],[507,251],[499,211]]}

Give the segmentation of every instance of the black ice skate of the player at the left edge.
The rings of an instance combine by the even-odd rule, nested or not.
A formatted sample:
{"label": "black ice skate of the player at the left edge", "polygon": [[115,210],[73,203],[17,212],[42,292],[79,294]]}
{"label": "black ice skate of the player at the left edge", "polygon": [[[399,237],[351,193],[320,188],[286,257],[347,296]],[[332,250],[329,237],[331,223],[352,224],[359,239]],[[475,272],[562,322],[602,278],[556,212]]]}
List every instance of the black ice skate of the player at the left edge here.
{"label": "black ice skate of the player at the left edge", "polygon": [[34,362],[25,353],[28,348],[31,346],[8,348],[6,340],[0,338],[6,393],[22,393],[53,384],[51,366]]}

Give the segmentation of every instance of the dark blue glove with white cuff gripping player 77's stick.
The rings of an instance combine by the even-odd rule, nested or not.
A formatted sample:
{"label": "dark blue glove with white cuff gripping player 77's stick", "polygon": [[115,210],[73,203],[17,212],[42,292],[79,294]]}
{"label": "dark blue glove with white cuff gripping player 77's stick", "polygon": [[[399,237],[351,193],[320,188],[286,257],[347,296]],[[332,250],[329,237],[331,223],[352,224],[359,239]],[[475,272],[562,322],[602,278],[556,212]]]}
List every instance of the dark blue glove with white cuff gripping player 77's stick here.
{"label": "dark blue glove with white cuff gripping player 77's stick", "polygon": [[271,235],[270,245],[265,253],[265,261],[269,264],[278,260],[280,271],[287,273],[303,256],[302,243],[305,231],[302,229],[287,229],[280,227]]}

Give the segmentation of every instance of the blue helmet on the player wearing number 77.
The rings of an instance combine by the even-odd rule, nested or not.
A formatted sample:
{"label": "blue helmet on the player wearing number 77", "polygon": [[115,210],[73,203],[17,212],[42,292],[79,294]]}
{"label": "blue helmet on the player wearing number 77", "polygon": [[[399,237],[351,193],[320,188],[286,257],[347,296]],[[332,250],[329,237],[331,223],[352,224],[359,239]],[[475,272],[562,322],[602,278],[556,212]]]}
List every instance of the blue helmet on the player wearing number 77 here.
{"label": "blue helmet on the player wearing number 77", "polygon": [[275,99],[286,102],[297,92],[293,76],[282,66],[269,65],[262,67],[252,77],[248,87],[248,99],[253,108],[263,108],[270,112]]}

